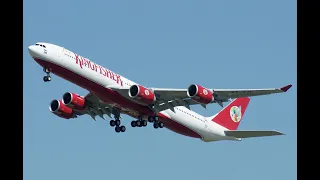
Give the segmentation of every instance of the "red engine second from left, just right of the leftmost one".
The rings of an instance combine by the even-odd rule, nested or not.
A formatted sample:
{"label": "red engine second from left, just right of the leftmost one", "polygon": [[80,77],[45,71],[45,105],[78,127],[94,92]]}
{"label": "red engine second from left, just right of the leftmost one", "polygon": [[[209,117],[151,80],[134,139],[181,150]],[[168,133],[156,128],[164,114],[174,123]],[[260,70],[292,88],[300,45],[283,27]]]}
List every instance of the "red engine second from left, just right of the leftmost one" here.
{"label": "red engine second from left, just right of the leftmost one", "polygon": [[62,96],[62,103],[75,110],[83,110],[85,101],[83,97],[75,93],[66,92]]}

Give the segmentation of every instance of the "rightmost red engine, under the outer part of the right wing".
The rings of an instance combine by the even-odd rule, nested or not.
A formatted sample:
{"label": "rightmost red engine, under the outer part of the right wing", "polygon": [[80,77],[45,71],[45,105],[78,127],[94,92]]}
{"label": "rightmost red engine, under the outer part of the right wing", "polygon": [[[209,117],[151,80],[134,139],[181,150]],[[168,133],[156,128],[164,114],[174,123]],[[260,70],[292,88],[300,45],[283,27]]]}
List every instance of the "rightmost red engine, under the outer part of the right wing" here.
{"label": "rightmost red engine, under the outer part of the right wing", "polygon": [[213,93],[197,84],[192,84],[188,87],[187,95],[202,104],[209,104],[214,101]]}

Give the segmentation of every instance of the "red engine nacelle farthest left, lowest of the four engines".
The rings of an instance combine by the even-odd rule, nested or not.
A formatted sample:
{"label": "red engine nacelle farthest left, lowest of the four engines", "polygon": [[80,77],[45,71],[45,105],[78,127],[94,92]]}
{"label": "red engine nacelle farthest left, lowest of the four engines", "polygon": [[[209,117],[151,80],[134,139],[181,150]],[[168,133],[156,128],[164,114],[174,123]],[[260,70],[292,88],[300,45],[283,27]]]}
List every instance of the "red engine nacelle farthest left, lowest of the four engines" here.
{"label": "red engine nacelle farthest left, lowest of the four engines", "polygon": [[61,100],[53,100],[50,103],[49,110],[62,118],[70,119],[73,116],[73,110],[68,106],[64,105]]}

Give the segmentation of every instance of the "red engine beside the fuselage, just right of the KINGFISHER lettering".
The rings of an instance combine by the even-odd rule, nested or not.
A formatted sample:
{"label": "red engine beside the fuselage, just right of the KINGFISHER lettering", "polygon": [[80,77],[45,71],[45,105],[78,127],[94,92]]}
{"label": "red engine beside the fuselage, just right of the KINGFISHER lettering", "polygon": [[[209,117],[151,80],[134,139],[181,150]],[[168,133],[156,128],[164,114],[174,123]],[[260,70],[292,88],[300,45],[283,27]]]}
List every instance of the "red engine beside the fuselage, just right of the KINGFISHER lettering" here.
{"label": "red engine beside the fuselage, just right of the KINGFISHER lettering", "polygon": [[135,98],[147,105],[152,104],[156,101],[156,96],[154,95],[154,93],[150,89],[140,85],[132,85],[129,88],[128,94],[131,98]]}

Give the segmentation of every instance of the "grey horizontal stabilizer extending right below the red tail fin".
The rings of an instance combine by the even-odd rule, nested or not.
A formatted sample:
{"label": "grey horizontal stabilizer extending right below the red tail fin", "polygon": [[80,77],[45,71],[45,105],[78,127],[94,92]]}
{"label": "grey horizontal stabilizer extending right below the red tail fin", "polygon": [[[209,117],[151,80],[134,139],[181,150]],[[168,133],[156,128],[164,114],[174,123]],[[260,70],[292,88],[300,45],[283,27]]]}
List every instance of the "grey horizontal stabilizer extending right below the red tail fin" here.
{"label": "grey horizontal stabilizer extending right below the red tail fin", "polygon": [[263,136],[276,136],[284,135],[278,131],[224,131],[226,136],[233,136],[236,138],[249,138],[249,137],[263,137]]}

